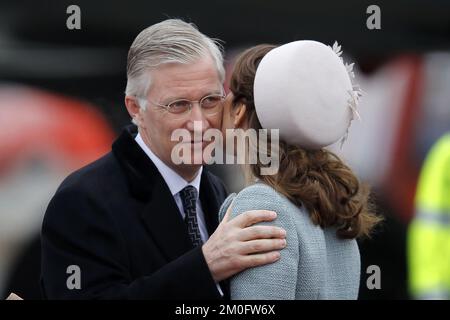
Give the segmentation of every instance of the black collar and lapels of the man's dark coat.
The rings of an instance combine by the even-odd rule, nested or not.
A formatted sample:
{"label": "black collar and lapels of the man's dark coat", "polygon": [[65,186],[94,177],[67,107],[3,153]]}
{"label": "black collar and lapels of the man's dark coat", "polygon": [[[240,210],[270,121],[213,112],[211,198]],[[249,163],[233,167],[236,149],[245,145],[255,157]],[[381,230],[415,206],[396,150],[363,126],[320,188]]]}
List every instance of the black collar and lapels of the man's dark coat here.
{"label": "black collar and lapels of the man's dark coat", "polygon": [[[156,166],[134,140],[137,127],[127,126],[113,143],[112,152],[126,175],[133,197],[144,203],[141,217],[166,258],[171,261],[192,249],[175,200]],[[209,175],[203,169],[200,201],[208,233],[218,225],[221,205]]]}

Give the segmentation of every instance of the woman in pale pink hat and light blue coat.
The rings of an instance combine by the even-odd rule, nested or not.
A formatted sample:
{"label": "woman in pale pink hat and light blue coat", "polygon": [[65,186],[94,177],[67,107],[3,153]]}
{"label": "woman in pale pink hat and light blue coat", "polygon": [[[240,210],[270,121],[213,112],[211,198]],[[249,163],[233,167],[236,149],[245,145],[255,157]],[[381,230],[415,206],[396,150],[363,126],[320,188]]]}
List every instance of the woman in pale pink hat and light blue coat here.
{"label": "woman in pale pink hat and light blue coat", "polygon": [[[278,261],[230,279],[232,299],[358,297],[355,239],[368,236],[380,218],[371,212],[368,188],[325,149],[345,139],[357,114],[360,92],[340,54],[337,45],[296,41],[259,45],[237,59],[223,131],[278,129],[279,164],[275,174],[264,174],[267,164],[259,160],[247,164],[252,182],[225,200],[221,219],[252,209],[276,211],[277,219],[264,224],[284,228],[286,240],[280,241],[286,243]],[[249,246],[264,247],[263,241]]]}

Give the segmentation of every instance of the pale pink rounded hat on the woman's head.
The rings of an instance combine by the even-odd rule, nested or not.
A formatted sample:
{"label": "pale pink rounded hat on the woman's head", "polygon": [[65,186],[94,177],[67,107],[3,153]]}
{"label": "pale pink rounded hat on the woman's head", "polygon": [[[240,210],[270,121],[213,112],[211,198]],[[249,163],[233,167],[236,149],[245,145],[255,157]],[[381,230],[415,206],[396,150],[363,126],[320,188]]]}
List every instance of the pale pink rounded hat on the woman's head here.
{"label": "pale pink rounded hat on the woman's head", "polygon": [[358,116],[361,96],[352,84],[353,64],[344,64],[340,46],[295,41],[268,52],[254,82],[258,119],[265,129],[279,129],[280,138],[307,149],[345,140]]}

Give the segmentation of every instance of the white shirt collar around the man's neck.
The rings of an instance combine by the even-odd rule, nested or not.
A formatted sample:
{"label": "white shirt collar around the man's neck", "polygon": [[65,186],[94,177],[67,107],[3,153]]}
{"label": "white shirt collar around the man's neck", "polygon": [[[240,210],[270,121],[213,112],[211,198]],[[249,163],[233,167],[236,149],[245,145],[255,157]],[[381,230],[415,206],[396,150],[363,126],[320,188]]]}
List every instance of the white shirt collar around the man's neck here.
{"label": "white shirt collar around the man's neck", "polygon": [[144,150],[144,152],[147,154],[150,160],[152,160],[152,162],[155,164],[159,173],[162,175],[164,181],[166,181],[166,184],[169,187],[172,196],[175,196],[186,186],[191,185],[197,190],[197,199],[198,199],[198,195],[200,194],[200,181],[202,177],[203,167],[200,167],[197,176],[194,178],[194,180],[188,182],[184,178],[182,178],[178,173],[176,173],[172,168],[166,165],[156,154],[152,152],[152,150],[145,144],[140,133],[137,134],[134,140],[142,148],[142,150]]}

